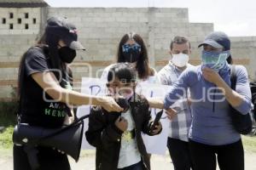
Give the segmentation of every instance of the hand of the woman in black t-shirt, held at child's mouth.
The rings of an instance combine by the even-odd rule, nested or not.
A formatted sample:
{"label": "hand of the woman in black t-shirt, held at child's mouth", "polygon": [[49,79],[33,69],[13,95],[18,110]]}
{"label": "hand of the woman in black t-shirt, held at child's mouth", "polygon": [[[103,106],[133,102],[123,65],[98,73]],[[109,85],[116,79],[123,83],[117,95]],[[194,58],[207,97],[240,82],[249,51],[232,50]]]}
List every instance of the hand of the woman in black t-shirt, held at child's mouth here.
{"label": "hand of the woman in black t-shirt, held at child's mouth", "polygon": [[100,105],[102,105],[102,107],[110,112],[110,111],[123,111],[124,109],[121,108],[112,97],[102,97],[102,99],[99,99],[100,101]]}

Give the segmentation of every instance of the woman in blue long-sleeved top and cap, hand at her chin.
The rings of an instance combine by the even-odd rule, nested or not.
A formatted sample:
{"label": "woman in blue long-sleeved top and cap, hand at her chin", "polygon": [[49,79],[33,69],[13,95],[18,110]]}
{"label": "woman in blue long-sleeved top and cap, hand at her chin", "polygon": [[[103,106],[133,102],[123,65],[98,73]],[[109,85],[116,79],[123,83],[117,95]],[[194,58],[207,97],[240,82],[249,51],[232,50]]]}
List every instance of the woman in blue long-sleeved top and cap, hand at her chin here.
{"label": "woman in blue long-sleeved top and cap, hand at her chin", "polygon": [[[202,64],[184,71],[164,101],[150,99],[152,107],[165,108],[169,118],[176,111],[169,109],[178,96],[189,88],[192,125],[189,150],[195,170],[243,170],[244,152],[240,133],[230,117],[230,105],[241,114],[251,110],[251,92],[247,70],[236,65],[236,91],[230,88],[230,39],[224,32],[212,32],[199,47]],[[230,58],[229,58],[230,59]],[[228,59],[228,60],[229,60]]]}

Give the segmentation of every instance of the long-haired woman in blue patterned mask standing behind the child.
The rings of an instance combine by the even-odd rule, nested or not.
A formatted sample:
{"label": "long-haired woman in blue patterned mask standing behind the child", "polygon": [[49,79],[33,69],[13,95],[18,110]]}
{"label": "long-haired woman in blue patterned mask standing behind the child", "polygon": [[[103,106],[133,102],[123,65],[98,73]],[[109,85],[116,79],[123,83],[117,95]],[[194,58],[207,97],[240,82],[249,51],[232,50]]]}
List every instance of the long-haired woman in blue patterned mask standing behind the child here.
{"label": "long-haired woman in blue patterned mask standing behind the child", "polygon": [[[117,53],[117,63],[129,62],[137,71],[138,82],[159,82],[156,71],[150,68],[148,52],[143,38],[134,32],[125,34],[120,42]],[[108,71],[113,65],[108,65],[102,73],[102,80],[107,81]]]}

